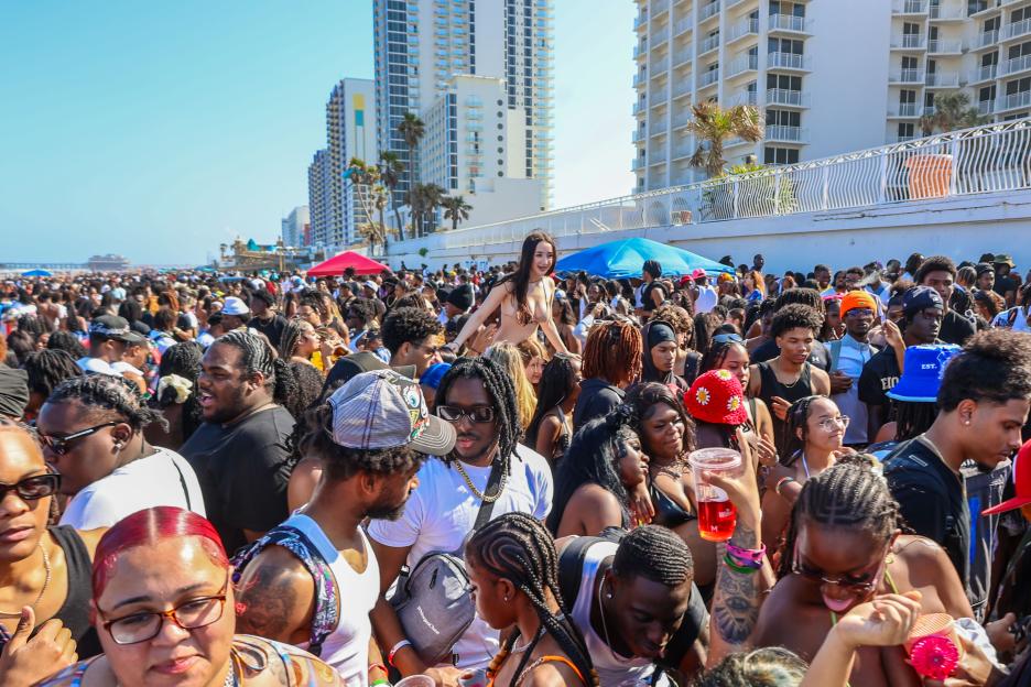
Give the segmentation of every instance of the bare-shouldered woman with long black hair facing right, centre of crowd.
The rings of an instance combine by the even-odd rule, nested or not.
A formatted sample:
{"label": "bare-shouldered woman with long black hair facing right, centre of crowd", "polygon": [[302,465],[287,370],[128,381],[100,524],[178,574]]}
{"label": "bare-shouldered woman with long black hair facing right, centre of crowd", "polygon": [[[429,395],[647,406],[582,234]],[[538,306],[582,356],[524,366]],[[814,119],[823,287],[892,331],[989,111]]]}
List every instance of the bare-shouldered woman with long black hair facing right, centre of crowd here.
{"label": "bare-shouldered woman with long black hair facing right, centre of crowd", "polygon": [[547,515],[547,528],[556,537],[595,536],[606,527],[633,524],[629,494],[647,483],[649,460],[633,423],[631,408],[620,405],[573,437],[558,466]]}

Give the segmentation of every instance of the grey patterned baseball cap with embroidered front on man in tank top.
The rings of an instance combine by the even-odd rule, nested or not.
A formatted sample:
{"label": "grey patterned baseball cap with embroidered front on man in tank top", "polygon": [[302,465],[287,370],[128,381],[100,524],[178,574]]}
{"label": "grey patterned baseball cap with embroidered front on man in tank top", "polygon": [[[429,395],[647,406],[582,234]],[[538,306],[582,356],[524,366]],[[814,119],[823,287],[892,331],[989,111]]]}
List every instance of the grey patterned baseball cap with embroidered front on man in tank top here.
{"label": "grey patterned baseball cap with embroidered front on man in tank top", "polygon": [[419,383],[393,370],[362,372],[333,392],[333,441],[376,450],[408,446],[445,456],[455,446],[455,428],[430,414]]}

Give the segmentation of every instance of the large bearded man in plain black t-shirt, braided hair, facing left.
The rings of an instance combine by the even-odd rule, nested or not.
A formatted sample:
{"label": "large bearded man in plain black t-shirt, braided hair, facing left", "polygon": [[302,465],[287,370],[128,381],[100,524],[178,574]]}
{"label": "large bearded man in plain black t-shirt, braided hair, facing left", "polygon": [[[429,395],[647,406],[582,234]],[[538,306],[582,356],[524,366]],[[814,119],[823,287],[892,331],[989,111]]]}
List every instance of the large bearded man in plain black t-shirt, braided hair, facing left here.
{"label": "large bearded man in plain black t-shirt, braided hair, facing left", "polygon": [[228,552],[286,519],[294,418],[283,404],[296,391],[292,370],[261,335],[230,331],[200,359],[204,424],[180,450],[197,472],[208,520]]}

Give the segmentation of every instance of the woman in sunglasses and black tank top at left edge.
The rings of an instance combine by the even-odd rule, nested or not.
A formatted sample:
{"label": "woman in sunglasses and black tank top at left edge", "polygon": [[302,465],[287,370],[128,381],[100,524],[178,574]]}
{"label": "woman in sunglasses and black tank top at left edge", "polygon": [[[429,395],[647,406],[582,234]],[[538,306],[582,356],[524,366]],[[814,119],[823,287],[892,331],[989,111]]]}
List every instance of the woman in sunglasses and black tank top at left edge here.
{"label": "woman in sunglasses and black tank top at left edge", "polygon": [[47,528],[59,486],[32,435],[0,418],[0,685],[34,685],[100,651],[89,560],[102,532]]}

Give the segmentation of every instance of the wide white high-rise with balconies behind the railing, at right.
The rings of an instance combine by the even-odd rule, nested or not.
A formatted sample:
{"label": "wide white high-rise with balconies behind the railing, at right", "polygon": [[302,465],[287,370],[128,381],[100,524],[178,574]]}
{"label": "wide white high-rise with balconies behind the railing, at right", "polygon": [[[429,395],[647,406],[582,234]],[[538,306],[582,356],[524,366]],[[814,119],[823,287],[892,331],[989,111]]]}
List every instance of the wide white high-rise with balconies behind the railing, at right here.
{"label": "wide white high-rise with balconies behind the railing, at right", "polygon": [[[636,190],[704,178],[691,106],[753,105],[766,139],[736,164],[786,164],[922,134],[937,94],[996,119],[1031,109],[1027,0],[637,0]],[[1024,57],[1024,55],[1028,55]]]}

